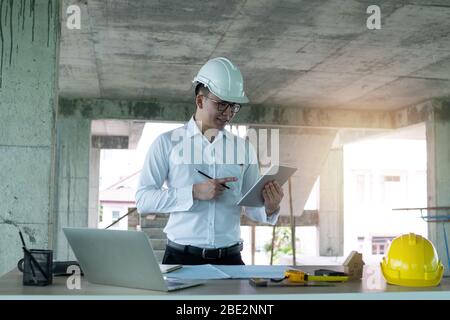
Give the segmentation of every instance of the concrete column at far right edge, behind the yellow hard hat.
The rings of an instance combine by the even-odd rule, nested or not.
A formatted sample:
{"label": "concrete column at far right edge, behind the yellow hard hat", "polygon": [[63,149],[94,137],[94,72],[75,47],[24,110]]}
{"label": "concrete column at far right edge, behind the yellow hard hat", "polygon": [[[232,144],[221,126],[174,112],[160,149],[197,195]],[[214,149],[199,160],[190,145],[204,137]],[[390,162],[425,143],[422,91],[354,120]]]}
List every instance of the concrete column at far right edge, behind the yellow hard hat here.
{"label": "concrete column at far right edge, behind the yellow hard hat", "polygon": [[[426,122],[428,207],[450,206],[450,100],[433,102],[433,111]],[[449,211],[429,211],[430,215],[450,215]],[[428,223],[428,237],[436,247],[450,275],[443,227],[450,241],[450,222]],[[449,244],[450,245],[450,244]]]}

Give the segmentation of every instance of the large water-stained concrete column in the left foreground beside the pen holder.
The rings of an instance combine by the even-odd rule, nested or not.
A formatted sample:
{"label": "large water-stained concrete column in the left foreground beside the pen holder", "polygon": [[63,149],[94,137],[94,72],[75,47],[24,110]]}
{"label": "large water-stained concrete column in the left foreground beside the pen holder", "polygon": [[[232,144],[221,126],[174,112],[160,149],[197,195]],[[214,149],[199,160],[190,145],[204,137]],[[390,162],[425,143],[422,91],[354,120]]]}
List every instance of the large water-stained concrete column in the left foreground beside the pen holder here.
{"label": "large water-stained concrete column in the left foreground beside the pen holder", "polygon": [[52,247],[59,1],[0,0],[0,275]]}

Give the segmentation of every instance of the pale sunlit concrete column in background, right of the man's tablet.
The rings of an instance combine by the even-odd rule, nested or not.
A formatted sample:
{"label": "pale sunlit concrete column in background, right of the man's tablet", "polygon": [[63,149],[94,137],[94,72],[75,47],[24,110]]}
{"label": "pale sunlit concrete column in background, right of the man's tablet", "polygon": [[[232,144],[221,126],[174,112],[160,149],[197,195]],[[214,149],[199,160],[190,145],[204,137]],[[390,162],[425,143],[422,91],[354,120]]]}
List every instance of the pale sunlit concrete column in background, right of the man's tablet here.
{"label": "pale sunlit concrete column in background, right of the man's tablet", "polygon": [[319,254],[344,254],[343,149],[331,149],[320,174]]}

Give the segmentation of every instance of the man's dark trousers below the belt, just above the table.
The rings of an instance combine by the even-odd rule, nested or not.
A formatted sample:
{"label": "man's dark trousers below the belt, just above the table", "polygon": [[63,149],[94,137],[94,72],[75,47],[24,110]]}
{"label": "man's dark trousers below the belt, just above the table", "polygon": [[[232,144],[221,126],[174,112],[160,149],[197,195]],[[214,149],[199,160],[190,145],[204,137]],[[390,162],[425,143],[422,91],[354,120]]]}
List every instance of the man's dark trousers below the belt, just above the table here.
{"label": "man's dark trousers below the belt, just above the table", "polygon": [[164,252],[163,264],[222,264],[222,265],[244,265],[241,254],[227,255],[220,259],[203,259],[200,255],[193,255],[183,251],[166,246]]}

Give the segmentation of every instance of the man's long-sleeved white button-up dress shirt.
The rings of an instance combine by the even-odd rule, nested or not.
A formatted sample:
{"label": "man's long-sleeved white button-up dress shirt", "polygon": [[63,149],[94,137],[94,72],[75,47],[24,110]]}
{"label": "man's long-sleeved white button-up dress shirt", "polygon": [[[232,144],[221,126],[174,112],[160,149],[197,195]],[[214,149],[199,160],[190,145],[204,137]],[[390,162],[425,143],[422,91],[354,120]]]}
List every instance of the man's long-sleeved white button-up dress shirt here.
{"label": "man's long-sleeved white button-up dress shirt", "polygon": [[[208,178],[236,177],[215,199],[194,200],[192,186]],[[211,143],[193,118],[160,135],[150,146],[136,192],[139,213],[170,213],[168,239],[202,248],[228,247],[240,241],[241,207],[236,203],[259,179],[256,152],[248,141],[223,130]],[[164,185],[165,184],[165,185]],[[264,207],[245,207],[252,220],[275,224]]]}

